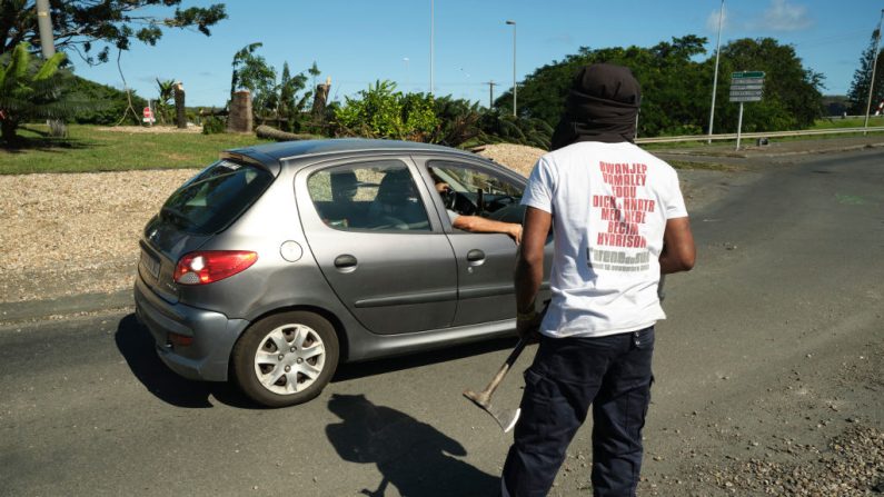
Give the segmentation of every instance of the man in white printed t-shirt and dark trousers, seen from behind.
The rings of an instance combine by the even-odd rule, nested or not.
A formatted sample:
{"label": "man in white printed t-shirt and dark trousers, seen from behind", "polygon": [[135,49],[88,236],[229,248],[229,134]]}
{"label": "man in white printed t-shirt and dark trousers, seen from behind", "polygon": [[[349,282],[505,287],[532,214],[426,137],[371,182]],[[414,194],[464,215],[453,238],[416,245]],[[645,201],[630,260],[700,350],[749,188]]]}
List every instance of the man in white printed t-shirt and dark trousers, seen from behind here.
{"label": "man in white printed t-shirt and dark trousers, seen from behind", "polygon": [[[632,143],[640,89],[619,66],[577,73],[553,151],[532,171],[516,267],[517,322],[539,324],[522,417],[503,471],[505,496],[542,496],[593,409],[593,491],[632,496],[650,399],[662,274],[689,270],[695,248],[675,170]],[[553,298],[535,298],[554,230]],[[538,322],[539,321],[539,322]]]}

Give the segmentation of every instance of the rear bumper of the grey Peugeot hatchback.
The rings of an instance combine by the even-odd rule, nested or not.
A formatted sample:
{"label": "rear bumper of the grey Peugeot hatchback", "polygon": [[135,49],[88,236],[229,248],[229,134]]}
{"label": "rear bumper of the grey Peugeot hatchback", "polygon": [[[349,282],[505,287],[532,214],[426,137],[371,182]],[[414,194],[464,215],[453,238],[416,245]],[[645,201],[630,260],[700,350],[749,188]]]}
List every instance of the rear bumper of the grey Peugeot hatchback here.
{"label": "rear bumper of the grey Peugeot hatchback", "polygon": [[[171,370],[190,379],[227,380],[230,351],[249,321],[169,304],[150,290],[140,276],[133,292],[136,316],[153,336],[157,355]],[[173,345],[170,334],[191,337],[192,344]]]}

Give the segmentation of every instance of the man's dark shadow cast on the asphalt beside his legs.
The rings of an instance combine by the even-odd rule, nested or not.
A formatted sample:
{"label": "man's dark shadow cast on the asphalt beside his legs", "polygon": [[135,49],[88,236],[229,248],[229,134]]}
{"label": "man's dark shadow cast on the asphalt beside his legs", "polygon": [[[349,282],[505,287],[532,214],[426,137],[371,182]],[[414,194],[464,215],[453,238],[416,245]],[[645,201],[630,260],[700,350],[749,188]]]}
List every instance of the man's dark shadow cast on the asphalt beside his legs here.
{"label": "man's dark shadow cast on the asphalt beside his legs", "polygon": [[496,476],[451,456],[466,456],[457,440],[399,410],[376,406],[364,395],[332,395],[341,423],[326,427],[338,455],[349,463],[377,465],[381,480],[364,495],[383,497],[393,485],[403,496],[498,495]]}

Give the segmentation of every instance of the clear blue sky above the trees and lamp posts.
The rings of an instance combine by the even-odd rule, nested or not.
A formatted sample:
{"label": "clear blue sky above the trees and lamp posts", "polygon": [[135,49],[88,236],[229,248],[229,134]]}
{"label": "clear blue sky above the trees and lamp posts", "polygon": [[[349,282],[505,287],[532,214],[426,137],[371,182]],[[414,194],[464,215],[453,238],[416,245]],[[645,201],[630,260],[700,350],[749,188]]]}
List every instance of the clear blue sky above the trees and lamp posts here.
{"label": "clear blue sky above the trees and lamp posts", "polygon": [[[216,0],[216,2],[222,0]],[[248,43],[281,72],[316,61],[331,78],[331,97],[344,100],[376,80],[400,90],[428,91],[430,26],[434,27],[436,95],[488,105],[513,85],[513,26],[516,74],[576,53],[579,47],[649,47],[684,34],[708,39],[714,54],[721,0],[227,0],[229,19],[197,31],[167,31],[156,47],[135,43],[121,67],[130,88],[156,98],[156,78],[180,80],[188,106],[224,106],[230,91],[230,63]],[[183,6],[212,1],[185,0]],[[433,4],[433,22],[430,6]],[[850,89],[860,56],[877,27],[881,0],[725,0],[722,43],[773,37],[795,47],[805,68],[825,74],[826,95]],[[168,12],[168,11],[166,11]],[[90,68],[71,54],[82,77],[122,88],[111,62]],[[747,68],[752,69],[752,68]]]}

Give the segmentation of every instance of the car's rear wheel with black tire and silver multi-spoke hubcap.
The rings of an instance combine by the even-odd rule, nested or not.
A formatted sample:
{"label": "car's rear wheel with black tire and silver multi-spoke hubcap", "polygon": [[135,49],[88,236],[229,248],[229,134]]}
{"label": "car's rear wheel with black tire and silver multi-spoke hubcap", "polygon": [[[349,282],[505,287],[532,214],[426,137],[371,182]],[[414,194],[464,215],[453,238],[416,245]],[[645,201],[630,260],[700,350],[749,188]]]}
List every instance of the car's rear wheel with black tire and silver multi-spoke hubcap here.
{"label": "car's rear wheel with black tire and silver multi-spoke hubcap", "polygon": [[328,385],[339,350],[335,328],[324,317],[307,311],[274,315],[250,326],[237,341],[234,377],[258,404],[304,404]]}

